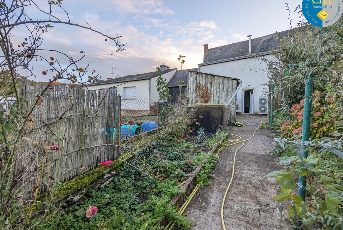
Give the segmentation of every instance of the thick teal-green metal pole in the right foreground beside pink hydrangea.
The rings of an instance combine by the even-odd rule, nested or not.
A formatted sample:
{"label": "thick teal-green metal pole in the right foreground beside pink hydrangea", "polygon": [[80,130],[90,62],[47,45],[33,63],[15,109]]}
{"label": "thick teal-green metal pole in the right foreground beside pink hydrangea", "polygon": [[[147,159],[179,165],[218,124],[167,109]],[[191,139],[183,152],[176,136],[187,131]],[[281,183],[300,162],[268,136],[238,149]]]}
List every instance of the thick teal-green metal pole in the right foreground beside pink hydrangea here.
{"label": "thick teal-green metal pole in the right foreground beside pink hydrangea", "polygon": [[[312,109],[312,93],[313,93],[313,78],[306,78],[305,86],[305,99],[304,99],[304,116],[303,116],[303,135],[301,141],[309,141],[310,138],[310,125],[311,125],[311,109]],[[304,149],[304,158],[307,159],[308,151]],[[305,199],[306,192],[306,176],[299,176],[298,196]]]}

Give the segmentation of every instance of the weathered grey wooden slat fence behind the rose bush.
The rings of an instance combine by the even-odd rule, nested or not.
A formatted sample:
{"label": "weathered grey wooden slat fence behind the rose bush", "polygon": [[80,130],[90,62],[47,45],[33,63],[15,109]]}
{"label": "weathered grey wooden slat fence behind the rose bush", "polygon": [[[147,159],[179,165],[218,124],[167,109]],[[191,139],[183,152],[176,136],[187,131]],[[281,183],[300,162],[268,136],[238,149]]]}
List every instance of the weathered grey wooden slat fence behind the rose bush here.
{"label": "weathered grey wooden slat fence behind the rose bush", "polygon": [[[33,106],[46,87],[21,82],[22,112]],[[34,195],[35,187],[45,191],[120,155],[119,147],[108,146],[120,145],[120,96],[105,89],[52,84],[42,99],[32,113],[32,127],[24,128],[27,135],[19,143],[15,163],[15,186],[28,196]]]}

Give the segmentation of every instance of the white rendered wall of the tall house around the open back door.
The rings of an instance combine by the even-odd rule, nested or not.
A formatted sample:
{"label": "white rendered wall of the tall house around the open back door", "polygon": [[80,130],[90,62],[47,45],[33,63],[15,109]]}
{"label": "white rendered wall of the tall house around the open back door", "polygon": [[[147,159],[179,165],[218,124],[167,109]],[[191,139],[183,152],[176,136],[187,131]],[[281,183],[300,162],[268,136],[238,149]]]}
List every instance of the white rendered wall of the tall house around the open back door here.
{"label": "white rendered wall of the tall house around the open back door", "polygon": [[[272,55],[263,57],[271,59]],[[268,82],[267,72],[259,70],[265,69],[266,67],[267,65],[264,62],[261,63],[260,60],[246,58],[199,66],[199,72],[241,79],[243,85],[237,93],[236,104],[239,105],[240,110],[243,112],[243,92],[244,90],[254,90],[253,113],[257,114],[259,109],[259,97],[263,96],[263,88],[268,88],[268,86],[262,85]],[[248,83],[250,83],[250,85],[248,85]]]}

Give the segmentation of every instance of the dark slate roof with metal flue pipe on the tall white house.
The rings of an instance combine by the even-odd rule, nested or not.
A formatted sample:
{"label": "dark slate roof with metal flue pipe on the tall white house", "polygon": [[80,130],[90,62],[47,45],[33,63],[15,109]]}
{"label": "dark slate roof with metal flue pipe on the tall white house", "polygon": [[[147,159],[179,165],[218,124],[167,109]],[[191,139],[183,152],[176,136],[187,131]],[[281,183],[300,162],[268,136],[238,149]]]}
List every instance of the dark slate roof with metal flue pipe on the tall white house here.
{"label": "dark slate roof with metal flue pipe on the tall white house", "polygon": [[[292,30],[277,33],[279,39],[286,36]],[[279,44],[275,34],[251,39],[251,54],[249,55],[249,40],[233,43],[225,46],[215,47],[204,54],[204,63],[220,61],[225,59],[239,59],[243,57],[256,56],[257,54],[265,55],[273,49],[278,49]],[[201,65],[201,64],[199,64]]]}

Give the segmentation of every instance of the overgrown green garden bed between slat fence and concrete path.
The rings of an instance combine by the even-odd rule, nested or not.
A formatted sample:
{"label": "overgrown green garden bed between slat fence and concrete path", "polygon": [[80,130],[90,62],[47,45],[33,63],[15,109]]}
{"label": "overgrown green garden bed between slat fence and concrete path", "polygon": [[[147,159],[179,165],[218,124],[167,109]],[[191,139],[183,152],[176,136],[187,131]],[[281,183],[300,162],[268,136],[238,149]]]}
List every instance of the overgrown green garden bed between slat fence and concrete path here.
{"label": "overgrown green garden bed between slat fence and concrete path", "polygon": [[[177,213],[178,203],[170,205],[170,202],[177,194],[186,192],[178,185],[185,182],[205,158],[206,165],[200,169],[197,177],[203,185],[210,183],[208,179],[217,159],[209,151],[225,137],[226,132],[222,131],[212,138],[204,137],[202,143],[197,143],[197,136],[192,135],[182,138],[188,141],[174,142],[153,135],[128,143],[125,148],[138,150],[127,161],[129,164],[116,163],[119,161],[113,163],[116,163],[117,172],[113,180],[100,189],[90,189],[77,205],[71,202],[67,207],[65,204],[54,221],[38,229],[156,230],[164,229],[159,224],[164,217],[166,221],[176,221],[181,229],[189,229],[192,223]],[[113,165],[96,170],[114,170]],[[94,177],[94,174],[89,176]],[[73,182],[77,189],[90,186],[86,174],[79,177],[74,179],[76,184]],[[70,188],[70,182],[60,185],[61,192],[70,191]],[[93,213],[96,207],[94,216],[89,215],[90,211],[87,214],[90,206],[94,206]]]}

